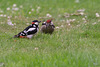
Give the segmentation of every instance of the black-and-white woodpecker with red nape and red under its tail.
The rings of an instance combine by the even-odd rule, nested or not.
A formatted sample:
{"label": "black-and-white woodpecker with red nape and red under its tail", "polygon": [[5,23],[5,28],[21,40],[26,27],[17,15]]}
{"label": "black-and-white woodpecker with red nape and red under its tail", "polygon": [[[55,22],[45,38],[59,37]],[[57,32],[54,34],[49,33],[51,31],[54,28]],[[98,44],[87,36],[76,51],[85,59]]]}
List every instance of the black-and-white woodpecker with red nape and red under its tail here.
{"label": "black-and-white woodpecker with red nape and red under its tail", "polygon": [[18,33],[17,35],[14,35],[14,38],[28,38],[31,39],[39,30],[39,23],[41,21],[34,20],[32,21],[32,24],[26,27],[23,31]]}

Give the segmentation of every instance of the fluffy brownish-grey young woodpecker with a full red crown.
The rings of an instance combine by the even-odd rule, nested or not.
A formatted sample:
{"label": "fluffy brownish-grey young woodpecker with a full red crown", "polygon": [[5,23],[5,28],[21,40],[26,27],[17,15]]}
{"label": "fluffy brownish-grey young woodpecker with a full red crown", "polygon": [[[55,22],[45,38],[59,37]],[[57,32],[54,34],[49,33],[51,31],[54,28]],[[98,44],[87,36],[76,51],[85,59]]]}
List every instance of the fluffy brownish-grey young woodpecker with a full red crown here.
{"label": "fluffy brownish-grey young woodpecker with a full red crown", "polygon": [[54,28],[55,28],[55,26],[54,26],[52,20],[47,20],[46,22],[42,23],[41,32],[45,33],[45,34],[52,34],[54,31]]}

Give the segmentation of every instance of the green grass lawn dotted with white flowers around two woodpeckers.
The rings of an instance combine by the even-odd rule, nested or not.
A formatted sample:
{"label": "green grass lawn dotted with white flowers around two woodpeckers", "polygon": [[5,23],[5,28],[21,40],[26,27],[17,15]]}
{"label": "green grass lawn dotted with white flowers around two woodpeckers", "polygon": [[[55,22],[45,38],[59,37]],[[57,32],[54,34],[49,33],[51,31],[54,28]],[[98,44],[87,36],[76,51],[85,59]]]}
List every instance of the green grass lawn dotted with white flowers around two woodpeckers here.
{"label": "green grass lawn dotted with white flowers around two woodpeckers", "polygon": [[[23,8],[12,13],[13,4]],[[12,23],[16,23],[9,26],[8,18],[0,17],[0,67],[100,67],[100,17],[95,16],[100,13],[99,6],[99,0],[80,0],[79,3],[75,0],[0,0],[3,11],[0,15],[12,16]],[[9,11],[6,10],[8,7]],[[40,7],[39,12],[37,7]],[[77,13],[79,9],[85,9],[86,23],[82,20],[85,16],[63,17],[65,13]],[[54,18],[55,26],[60,27],[52,35],[39,31],[30,40],[10,39],[27,27],[26,23],[49,19],[40,18],[47,13]],[[68,19],[76,20],[69,26]]]}

